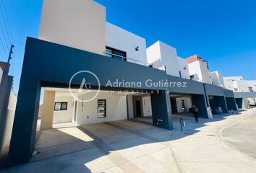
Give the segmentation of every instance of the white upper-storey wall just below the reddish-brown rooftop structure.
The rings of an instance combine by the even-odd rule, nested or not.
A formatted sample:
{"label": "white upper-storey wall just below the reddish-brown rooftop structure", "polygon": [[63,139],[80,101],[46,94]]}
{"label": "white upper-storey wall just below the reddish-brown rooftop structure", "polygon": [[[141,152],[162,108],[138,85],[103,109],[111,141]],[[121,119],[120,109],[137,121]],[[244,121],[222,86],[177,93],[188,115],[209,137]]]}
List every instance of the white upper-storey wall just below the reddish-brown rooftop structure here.
{"label": "white upper-storey wall just below the reddish-brown rooftop structure", "polygon": [[188,66],[189,76],[194,75],[195,81],[212,84],[212,80],[210,79],[210,71],[208,69],[207,63],[200,60],[189,63]]}

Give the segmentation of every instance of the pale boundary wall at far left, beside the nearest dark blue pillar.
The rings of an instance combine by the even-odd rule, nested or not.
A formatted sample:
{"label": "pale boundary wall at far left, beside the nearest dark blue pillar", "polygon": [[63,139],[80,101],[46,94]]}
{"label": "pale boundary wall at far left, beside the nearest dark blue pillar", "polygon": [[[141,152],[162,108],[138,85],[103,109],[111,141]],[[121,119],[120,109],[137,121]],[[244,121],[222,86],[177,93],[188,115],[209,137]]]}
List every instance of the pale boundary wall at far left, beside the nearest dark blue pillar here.
{"label": "pale boundary wall at far left, beside the nearest dark blue pillar", "polygon": [[9,97],[7,120],[6,120],[6,124],[5,124],[5,128],[4,128],[4,138],[3,138],[3,144],[1,146],[1,151],[4,151],[4,149],[8,148],[10,140],[11,140],[12,125],[13,125],[13,121],[14,121],[16,102],[17,102],[17,97],[14,95],[14,92],[11,92],[10,97]]}

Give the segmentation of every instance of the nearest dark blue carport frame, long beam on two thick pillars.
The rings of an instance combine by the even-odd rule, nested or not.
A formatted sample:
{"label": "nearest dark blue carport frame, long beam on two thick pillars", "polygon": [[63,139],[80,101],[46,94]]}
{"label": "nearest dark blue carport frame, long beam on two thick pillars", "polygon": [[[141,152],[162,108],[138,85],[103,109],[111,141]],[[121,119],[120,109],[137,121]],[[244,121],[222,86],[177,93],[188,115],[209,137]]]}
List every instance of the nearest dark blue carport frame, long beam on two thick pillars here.
{"label": "nearest dark blue carport frame, long beam on two thick pillars", "polygon": [[[140,75],[131,75],[131,69]],[[98,76],[103,90],[108,89],[106,84],[109,80],[125,79],[136,83],[146,79],[160,81],[166,78],[165,71],[27,37],[9,148],[10,165],[26,163],[33,154],[41,88],[69,88],[72,75],[85,70]],[[82,76],[74,79],[72,88],[80,88],[82,81]],[[90,81],[92,89],[98,88],[94,76],[88,76],[86,81]],[[119,87],[114,89],[119,90]],[[131,92],[137,88],[129,86],[122,89]],[[140,89],[150,90],[153,125],[172,129],[171,104],[165,88],[149,87],[142,83]]]}

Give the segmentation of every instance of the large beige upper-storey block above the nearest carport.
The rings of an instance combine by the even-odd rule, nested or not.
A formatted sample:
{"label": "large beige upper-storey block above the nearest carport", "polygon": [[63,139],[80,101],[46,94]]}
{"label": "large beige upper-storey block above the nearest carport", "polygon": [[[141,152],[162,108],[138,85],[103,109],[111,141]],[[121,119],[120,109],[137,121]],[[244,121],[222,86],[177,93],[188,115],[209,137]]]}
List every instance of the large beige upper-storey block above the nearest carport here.
{"label": "large beige upper-storey block above the nearest carport", "polygon": [[93,0],[44,0],[39,38],[103,55],[106,9]]}

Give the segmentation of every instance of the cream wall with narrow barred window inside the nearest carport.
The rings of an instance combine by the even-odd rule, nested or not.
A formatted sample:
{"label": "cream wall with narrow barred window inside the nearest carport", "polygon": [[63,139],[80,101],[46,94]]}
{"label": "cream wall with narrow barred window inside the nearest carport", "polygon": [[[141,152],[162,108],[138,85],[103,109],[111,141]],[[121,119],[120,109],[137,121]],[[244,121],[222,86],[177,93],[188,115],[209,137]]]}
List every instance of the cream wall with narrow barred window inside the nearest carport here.
{"label": "cream wall with narrow barred window inside the nearest carport", "polygon": [[[88,93],[79,99],[91,98]],[[106,99],[106,117],[98,118],[98,99]],[[100,92],[91,102],[77,102],[77,125],[103,123],[115,120],[127,120],[127,99],[120,94]]]}

